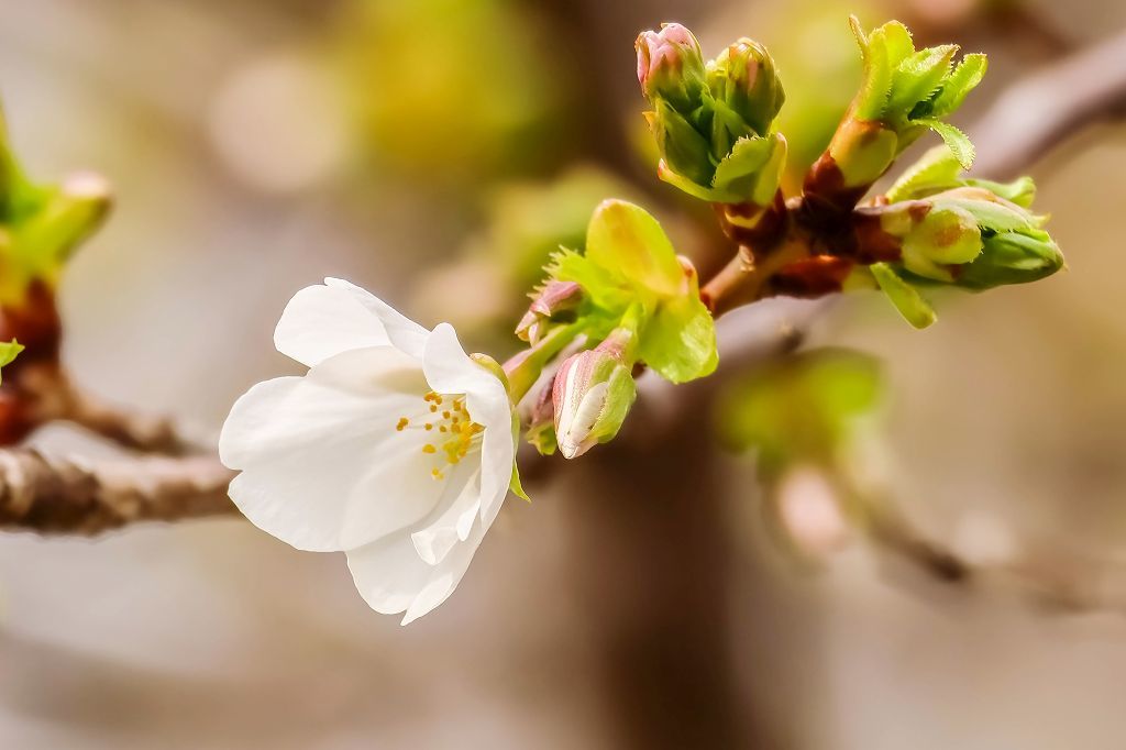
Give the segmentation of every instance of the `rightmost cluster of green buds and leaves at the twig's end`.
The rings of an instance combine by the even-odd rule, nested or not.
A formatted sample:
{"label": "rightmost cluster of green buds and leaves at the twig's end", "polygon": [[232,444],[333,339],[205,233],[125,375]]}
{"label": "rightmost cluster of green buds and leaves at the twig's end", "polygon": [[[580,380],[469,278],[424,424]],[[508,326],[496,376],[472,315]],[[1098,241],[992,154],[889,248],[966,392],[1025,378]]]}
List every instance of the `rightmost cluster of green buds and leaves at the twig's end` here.
{"label": "rightmost cluster of green buds and leaves at the twig's end", "polygon": [[[950,285],[972,291],[1036,282],[1064,259],[1029,207],[1036,186],[973,180],[945,148],[928,152],[888,190],[893,203],[858,208],[857,226],[884,248],[870,266],[876,283],[918,327],[933,313],[917,287]],[[879,240],[873,242],[873,238]]]}

